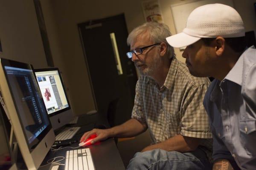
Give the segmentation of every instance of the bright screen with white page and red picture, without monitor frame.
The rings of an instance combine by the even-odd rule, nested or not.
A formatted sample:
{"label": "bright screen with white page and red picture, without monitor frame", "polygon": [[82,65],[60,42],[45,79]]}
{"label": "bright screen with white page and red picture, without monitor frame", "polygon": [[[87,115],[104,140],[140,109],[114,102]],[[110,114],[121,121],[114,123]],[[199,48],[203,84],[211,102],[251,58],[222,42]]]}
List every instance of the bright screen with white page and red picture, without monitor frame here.
{"label": "bright screen with white page and red picture, without monitor frame", "polygon": [[69,107],[63,83],[57,69],[35,72],[41,94],[48,114],[55,115],[58,111]]}

